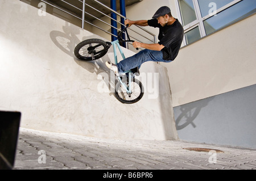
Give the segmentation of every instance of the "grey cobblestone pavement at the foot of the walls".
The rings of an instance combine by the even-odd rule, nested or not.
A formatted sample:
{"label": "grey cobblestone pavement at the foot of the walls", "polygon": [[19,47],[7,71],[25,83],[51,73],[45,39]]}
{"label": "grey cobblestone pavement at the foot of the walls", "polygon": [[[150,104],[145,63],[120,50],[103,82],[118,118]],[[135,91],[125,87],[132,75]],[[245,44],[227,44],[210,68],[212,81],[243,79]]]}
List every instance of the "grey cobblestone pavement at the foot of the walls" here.
{"label": "grey cobblestone pavement at the foot of the walls", "polygon": [[14,170],[24,169],[255,170],[256,150],[185,141],[110,140],[21,128]]}

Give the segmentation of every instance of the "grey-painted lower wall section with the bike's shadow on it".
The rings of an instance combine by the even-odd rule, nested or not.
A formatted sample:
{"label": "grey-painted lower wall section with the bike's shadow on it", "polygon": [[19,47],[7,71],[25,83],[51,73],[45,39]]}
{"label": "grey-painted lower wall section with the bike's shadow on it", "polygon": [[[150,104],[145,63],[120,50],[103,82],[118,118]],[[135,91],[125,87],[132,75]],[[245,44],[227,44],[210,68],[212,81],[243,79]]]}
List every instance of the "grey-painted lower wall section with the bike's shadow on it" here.
{"label": "grey-painted lower wall section with the bike's shadow on it", "polygon": [[256,148],[256,85],[174,108],[181,140]]}

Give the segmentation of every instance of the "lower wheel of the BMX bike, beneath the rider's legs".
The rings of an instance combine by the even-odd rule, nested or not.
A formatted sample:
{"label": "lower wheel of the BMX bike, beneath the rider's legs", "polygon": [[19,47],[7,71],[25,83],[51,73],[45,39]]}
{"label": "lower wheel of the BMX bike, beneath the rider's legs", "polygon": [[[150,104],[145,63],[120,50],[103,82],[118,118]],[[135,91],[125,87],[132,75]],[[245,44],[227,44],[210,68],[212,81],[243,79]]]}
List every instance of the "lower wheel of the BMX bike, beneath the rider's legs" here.
{"label": "lower wheel of the BMX bike, beneath the rider's legs", "polygon": [[123,87],[121,82],[118,82],[115,86],[115,96],[120,102],[125,104],[133,104],[141,100],[144,95],[144,88],[140,81],[134,78],[131,85],[129,85],[128,80],[123,83],[131,88],[131,93],[127,92],[126,87]]}

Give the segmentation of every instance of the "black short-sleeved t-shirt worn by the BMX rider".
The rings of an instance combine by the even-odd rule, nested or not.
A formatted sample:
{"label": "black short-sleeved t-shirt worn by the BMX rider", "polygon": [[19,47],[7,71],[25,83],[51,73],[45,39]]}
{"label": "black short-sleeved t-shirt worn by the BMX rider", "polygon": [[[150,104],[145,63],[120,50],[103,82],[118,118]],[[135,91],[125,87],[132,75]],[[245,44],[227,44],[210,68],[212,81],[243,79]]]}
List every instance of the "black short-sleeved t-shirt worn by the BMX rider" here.
{"label": "black short-sleeved t-shirt worn by the BMX rider", "polygon": [[159,28],[158,44],[164,45],[162,49],[164,60],[174,60],[179,53],[181,43],[184,37],[184,30],[179,20],[171,25],[162,27],[158,24],[157,19],[151,19],[147,21],[148,26]]}

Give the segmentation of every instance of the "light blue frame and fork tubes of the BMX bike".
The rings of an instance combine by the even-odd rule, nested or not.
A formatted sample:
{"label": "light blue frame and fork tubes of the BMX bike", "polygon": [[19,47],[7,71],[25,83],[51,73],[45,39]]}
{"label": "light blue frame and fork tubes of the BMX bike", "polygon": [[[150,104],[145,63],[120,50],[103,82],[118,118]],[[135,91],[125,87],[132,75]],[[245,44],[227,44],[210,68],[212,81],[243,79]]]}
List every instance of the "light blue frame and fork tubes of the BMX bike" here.
{"label": "light blue frame and fork tubes of the BMX bike", "polygon": [[[113,49],[114,49],[115,64],[117,64],[118,63],[117,62],[117,48],[118,48],[119,52],[121,53],[121,56],[122,56],[123,59],[125,59],[125,54],[123,54],[123,51],[122,51],[121,46],[119,44],[119,40],[112,41],[111,44],[113,45]],[[125,74],[129,73],[129,85],[131,85],[131,71],[126,71],[124,73]],[[125,83],[123,83],[120,75],[117,78],[118,78],[118,81],[121,83],[121,85],[123,87],[126,87],[127,94],[131,94],[131,87],[130,86],[128,87],[128,86],[125,85]]]}

